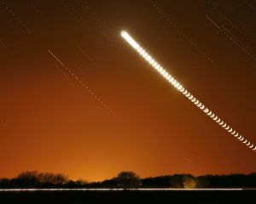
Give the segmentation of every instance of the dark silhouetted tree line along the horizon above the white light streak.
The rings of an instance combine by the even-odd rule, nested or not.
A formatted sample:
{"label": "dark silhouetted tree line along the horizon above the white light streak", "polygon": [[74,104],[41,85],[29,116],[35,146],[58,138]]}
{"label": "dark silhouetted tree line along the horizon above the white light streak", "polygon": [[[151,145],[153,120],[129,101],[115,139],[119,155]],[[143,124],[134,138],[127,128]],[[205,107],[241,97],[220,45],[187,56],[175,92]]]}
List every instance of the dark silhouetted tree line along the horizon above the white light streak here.
{"label": "dark silhouetted tree line along the horizon above the white light streak", "polygon": [[121,172],[116,177],[101,182],[72,180],[62,173],[38,173],[27,171],[15,178],[0,178],[0,189],[13,188],[255,188],[256,173],[205,175],[173,174],[140,178],[133,172]]}

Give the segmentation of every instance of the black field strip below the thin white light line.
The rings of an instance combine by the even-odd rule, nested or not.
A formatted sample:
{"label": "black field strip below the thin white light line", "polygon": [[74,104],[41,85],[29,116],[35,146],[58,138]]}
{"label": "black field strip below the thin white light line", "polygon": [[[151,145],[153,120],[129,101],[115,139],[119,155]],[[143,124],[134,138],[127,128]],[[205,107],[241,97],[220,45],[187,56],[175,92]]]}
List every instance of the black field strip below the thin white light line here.
{"label": "black field strip below the thin white light line", "polygon": [[0,203],[255,203],[241,191],[34,191],[0,192]]}

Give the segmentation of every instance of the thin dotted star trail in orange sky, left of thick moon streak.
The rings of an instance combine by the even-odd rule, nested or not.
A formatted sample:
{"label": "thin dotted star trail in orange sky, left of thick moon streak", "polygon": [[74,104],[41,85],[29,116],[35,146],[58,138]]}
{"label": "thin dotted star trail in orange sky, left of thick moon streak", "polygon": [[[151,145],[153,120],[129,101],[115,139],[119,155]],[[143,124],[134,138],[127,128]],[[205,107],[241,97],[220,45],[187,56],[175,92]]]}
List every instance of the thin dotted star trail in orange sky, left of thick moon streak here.
{"label": "thin dotted star trail in orange sky, left of thick moon streak", "polygon": [[61,62],[61,59],[57,58],[56,55],[53,54],[53,52],[50,51],[50,50],[48,50],[48,53],[49,53],[54,59],[56,59],[56,60],[59,62],[59,64],[61,65],[61,67],[62,67],[63,69],[65,69],[77,82],[79,82],[79,84],[80,84],[82,87],[86,88],[87,91],[90,93],[90,95],[92,95],[92,96],[96,99],[96,101],[97,101],[98,103],[100,103],[104,108],[106,108],[108,111],[110,111],[111,113],[113,113],[113,115],[115,115],[115,113],[113,112],[113,110],[112,110],[111,108],[109,108],[108,105],[102,101],[102,99],[100,99],[100,98],[99,98],[99,97],[98,97],[98,96],[97,96],[97,95],[79,78],[79,77],[77,77],[77,76],[73,73],[72,70],[70,70],[64,63]]}

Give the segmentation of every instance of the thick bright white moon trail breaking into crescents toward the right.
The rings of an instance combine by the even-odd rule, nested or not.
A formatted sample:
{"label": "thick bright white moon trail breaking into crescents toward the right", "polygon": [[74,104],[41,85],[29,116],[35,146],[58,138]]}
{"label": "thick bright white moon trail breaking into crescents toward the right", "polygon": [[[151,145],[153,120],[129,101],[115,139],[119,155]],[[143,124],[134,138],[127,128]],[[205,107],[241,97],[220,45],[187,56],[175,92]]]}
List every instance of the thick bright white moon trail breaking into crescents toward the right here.
{"label": "thick bright white moon trail breaking into crescents toward the right", "polygon": [[[234,128],[230,127],[230,125],[228,125],[226,122],[224,122],[219,116],[214,114],[205,105],[203,105],[201,102],[199,102],[199,100],[196,99],[195,96],[190,94],[189,91],[186,90],[186,88],[183,88],[183,85],[180,84],[179,82],[177,82],[175,80],[175,78],[172,77],[172,75],[170,75],[168,73],[168,71],[166,71],[160,64],[158,64],[158,62],[154,58],[152,58],[146,52],[146,50],[144,50],[126,31],[121,31],[121,36],[124,37],[125,41],[128,42],[131,45],[131,47],[134,48],[137,51],[138,54],[143,56],[143,59],[148,61],[148,63],[151,66],[153,66],[154,69],[156,71],[158,71],[161,76],[165,77],[166,80],[168,82],[170,82],[174,88],[177,88],[177,90],[179,92],[181,92],[191,102],[193,102],[201,111],[203,111],[205,114],[207,114],[207,116],[209,116],[214,122],[217,122],[220,127],[223,127],[226,130],[226,132],[230,133],[232,131],[232,133],[230,133],[230,134],[233,137],[235,137],[236,139],[240,140],[242,144],[245,144],[247,147],[248,147],[249,144],[251,144],[251,146],[249,146],[248,148],[253,150],[254,152],[256,152],[256,145],[251,143],[248,139],[245,139],[243,136],[241,136],[241,134],[237,133],[236,130],[234,130]],[[197,103],[197,101],[199,103]],[[237,137],[238,135],[239,135],[239,137]]]}

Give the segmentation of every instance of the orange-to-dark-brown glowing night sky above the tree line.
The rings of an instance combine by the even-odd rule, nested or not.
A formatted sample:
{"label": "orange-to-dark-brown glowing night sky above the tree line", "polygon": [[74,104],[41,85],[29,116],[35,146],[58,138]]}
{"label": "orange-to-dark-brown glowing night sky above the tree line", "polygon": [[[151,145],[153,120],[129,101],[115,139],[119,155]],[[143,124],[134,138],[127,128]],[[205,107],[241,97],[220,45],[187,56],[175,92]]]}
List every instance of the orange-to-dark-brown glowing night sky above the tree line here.
{"label": "orange-to-dark-brown glowing night sky above the tree line", "polygon": [[249,0],[0,1],[0,177],[255,172],[255,152],[120,37],[255,144],[255,21]]}

